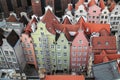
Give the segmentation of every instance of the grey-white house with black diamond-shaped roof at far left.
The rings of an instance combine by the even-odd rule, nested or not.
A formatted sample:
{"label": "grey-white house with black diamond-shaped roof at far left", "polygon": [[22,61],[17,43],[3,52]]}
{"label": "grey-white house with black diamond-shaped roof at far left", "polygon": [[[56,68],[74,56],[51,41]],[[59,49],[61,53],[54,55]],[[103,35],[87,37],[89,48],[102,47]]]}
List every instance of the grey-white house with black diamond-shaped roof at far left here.
{"label": "grey-white house with black diamond-shaped roof at far left", "polygon": [[[7,32],[6,32],[7,33]],[[3,44],[1,45],[1,57],[3,62],[1,67],[4,69],[15,69],[23,71],[26,65],[26,60],[22,50],[21,42],[17,33],[12,30],[10,33],[3,34],[5,38],[2,39]]]}

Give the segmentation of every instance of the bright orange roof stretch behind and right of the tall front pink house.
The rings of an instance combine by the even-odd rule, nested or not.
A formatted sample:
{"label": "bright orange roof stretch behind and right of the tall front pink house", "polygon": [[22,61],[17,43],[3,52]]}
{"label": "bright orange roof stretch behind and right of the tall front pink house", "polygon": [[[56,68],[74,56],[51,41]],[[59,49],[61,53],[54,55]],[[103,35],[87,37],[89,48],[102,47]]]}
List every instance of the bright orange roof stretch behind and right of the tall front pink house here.
{"label": "bright orange roof stretch behind and right of the tall front pink house", "polygon": [[[110,33],[110,25],[109,24],[97,24],[97,23],[83,23],[84,28],[86,29],[87,34],[91,34],[93,32],[99,32],[102,29],[105,29],[108,33]],[[87,32],[87,29],[89,30]]]}

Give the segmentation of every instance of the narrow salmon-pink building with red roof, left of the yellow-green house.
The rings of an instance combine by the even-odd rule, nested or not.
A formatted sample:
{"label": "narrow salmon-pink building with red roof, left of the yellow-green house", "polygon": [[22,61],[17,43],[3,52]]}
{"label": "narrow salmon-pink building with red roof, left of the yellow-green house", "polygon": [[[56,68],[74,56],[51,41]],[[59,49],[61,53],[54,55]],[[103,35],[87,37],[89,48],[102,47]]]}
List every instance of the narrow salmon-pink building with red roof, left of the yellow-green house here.
{"label": "narrow salmon-pink building with red roof, left of the yellow-green house", "polygon": [[30,20],[25,28],[25,32],[21,35],[22,47],[28,65],[34,66],[37,69],[36,55],[32,43],[31,32],[36,29],[36,18]]}

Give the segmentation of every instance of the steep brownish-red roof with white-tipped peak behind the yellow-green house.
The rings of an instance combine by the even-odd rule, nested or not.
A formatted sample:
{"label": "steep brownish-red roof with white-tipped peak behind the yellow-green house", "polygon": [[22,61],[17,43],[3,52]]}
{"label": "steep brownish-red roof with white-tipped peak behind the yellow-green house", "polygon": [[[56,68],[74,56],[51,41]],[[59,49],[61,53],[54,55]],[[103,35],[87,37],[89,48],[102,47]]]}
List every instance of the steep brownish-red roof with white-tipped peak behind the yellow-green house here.
{"label": "steep brownish-red roof with white-tipped peak behind the yellow-green house", "polygon": [[46,28],[47,30],[52,33],[55,34],[55,30],[53,27],[53,22],[55,21],[56,23],[59,23],[59,21],[57,20],[57,18],[55,17],[55,15],[53,14],[53,12],[51,12],[50,9],[48,9],[45,13],[45,15],[43,16],[42,22],[46,23]]}

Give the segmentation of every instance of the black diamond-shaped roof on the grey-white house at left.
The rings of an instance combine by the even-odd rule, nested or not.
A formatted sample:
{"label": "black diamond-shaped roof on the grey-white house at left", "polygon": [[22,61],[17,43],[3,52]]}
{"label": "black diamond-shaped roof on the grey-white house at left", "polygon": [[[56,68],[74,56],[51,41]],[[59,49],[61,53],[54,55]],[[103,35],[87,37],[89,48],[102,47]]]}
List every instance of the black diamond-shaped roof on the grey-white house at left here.
{"label": "black diamond-shaped roof on the grey-white house at left", "polygon": [[14,47],[16,45],[16,43],[18,42],[18,40],[19,40],[19,36],[17,35],[17,33],[14,30],[12,30],[11,33],[7,37],[8,43],[12,47]]}

